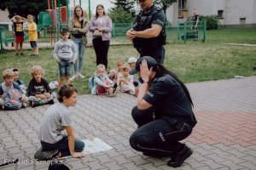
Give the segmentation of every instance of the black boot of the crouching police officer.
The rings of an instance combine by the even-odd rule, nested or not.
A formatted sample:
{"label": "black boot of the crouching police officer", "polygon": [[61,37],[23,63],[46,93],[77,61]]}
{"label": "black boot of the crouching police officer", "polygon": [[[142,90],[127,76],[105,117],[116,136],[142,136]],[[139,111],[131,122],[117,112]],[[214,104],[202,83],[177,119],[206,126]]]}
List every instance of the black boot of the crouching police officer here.
{"label": "black boot of the crouching police officer", "polygon": [[185,159],[187,159],[189,156],[191,156],[193,153],[193,150],[189,148],[186,144],[184,144],[184,148],[182,151],[177,153],[176,156],[172,156],[171,160],[167,162],[167,166],[169,167],[180,167]]}

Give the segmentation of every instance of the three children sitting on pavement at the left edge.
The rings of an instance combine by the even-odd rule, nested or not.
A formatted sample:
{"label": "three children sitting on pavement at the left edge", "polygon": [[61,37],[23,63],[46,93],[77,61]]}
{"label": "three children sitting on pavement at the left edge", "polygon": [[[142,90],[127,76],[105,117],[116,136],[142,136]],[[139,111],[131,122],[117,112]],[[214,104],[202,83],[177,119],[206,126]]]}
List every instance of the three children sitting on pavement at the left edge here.
{"label": "three children sitting on pavement at the left edge", "polygon": [[32,107],[44,104],[54,104],[56,97],[43,78],[44,69],[40,65],[31,68],[32,79],[26,88],[20,80],[18,69],[3,71],[3,82],[0,84],[0,109],[18,110],[28,105]]}

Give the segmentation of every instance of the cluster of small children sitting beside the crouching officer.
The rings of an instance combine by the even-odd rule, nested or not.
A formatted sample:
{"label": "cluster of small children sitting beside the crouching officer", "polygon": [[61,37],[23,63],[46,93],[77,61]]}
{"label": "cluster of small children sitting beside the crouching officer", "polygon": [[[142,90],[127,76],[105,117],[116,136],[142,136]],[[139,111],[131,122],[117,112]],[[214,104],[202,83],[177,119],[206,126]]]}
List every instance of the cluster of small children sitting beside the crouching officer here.
{"label": "cluster of small children sitting beside the crouching officer", "polygon": [[116,96],[119,92],[137,95],[137,86],[134,77],[129,71],[135,67],[137,59],[130,57],[128,62],[119,60],[116,68],[107,74],[105,65],[97,65],[96,72],[89,79],[91,94],[107,94],[109,97]]}

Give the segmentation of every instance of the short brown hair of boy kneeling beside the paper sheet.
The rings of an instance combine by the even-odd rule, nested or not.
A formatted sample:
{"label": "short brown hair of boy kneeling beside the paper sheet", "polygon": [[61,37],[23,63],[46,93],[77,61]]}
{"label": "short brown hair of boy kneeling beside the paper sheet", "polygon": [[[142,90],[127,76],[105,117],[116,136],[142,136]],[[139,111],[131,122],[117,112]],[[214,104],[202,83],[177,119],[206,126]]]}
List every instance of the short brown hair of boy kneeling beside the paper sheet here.
{"label": "short brown hair of boy kneeling beside the paper sheet", "polygon": [[58,92],[58,101],[59,102],[63,102],[63,98],[66,97],[67,99],[70,98],[72,96],[72,94],[76,92],[78,93],[78,89],[74,87],[73,84],[71,83],[65,83],[61,86],[61,88],[59,89],[59,92]]}

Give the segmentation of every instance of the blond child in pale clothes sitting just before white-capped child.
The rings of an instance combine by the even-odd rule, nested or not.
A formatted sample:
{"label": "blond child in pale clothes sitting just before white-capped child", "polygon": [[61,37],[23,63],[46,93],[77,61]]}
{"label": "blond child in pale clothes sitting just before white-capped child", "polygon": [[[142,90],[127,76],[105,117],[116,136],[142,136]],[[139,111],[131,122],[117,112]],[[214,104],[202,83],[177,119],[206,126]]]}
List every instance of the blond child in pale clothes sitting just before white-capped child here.
{"label": "blond child in pale clothes sitting just before white-capped child", "polygon": [[129,74],[131,67],[128,63],[122,66],[121,74],[118,77],[118,86],[121,92],[128,92],[129,94],[135,94],[135,88],[133,85],[133,76]]}

